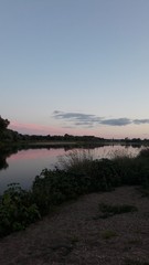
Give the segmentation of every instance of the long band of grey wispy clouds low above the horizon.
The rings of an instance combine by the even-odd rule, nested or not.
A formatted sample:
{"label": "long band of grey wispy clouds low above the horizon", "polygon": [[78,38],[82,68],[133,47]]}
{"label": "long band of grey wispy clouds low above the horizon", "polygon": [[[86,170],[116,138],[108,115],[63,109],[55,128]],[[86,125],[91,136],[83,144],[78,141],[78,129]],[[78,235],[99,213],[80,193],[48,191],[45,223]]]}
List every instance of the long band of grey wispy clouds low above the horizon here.
{"label": "long band of grey wispy clouds low above the horizon", "polygon": [[62,119],[70,123],[72,126],[83,126],[92,128],[97,125],[107,125],[107,126],[127,126],[130,124],[141,125],[149,124],[149,119],[130,119],[126,117],[121,118],[106,118],[99,117],[91,114],[82,114],[82,113],[65,113],[55,110],[53,113],[53,117],[55,119]]}

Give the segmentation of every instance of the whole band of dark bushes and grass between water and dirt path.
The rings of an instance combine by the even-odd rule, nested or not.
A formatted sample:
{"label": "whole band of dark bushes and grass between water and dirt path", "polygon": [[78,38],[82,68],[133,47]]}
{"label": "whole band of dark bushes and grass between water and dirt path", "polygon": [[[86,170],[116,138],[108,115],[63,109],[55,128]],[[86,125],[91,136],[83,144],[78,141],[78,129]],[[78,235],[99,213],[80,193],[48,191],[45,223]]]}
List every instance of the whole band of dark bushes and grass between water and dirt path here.
{"label": "whole band of dark bushes and grass between water and dirt path", "polygon": [[35,177],[30,191],[9,187],[0,198],[0,236],[25,229],[64,201],[120,186],[140,186],[149,193],[149,149],[135,158],[118,155],[110,160],[73,151],[61,160],[61,167]]}

